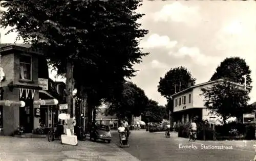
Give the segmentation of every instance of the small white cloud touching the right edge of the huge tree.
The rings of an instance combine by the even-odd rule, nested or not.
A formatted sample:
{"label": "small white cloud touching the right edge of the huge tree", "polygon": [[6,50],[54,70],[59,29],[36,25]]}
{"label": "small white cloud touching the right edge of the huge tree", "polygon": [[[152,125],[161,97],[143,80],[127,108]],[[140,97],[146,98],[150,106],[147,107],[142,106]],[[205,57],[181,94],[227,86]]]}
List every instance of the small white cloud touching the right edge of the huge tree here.
{"label": "small white cloud touching the right edge of the huge tree", "polygon": [[155,48],[155,47],[166,47],[172,48],[175,47],[177,41],[171,41],[170,38],[166,35],[159,36],[158,34],[152,34],[147,38],[145,42],[141,42],[140,46],[143,48]]}

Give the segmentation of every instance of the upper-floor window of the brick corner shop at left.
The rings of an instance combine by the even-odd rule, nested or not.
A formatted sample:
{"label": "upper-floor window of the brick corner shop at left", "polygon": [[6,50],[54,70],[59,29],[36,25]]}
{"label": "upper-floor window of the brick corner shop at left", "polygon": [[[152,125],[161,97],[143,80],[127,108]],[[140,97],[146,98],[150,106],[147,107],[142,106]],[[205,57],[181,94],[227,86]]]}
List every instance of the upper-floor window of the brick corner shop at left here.
{"label": "upper-floor window of the brick corner shop at left", "polygon": [[32,80],[32,57],[20,55],[19,66],[20,66],[19,78]]}

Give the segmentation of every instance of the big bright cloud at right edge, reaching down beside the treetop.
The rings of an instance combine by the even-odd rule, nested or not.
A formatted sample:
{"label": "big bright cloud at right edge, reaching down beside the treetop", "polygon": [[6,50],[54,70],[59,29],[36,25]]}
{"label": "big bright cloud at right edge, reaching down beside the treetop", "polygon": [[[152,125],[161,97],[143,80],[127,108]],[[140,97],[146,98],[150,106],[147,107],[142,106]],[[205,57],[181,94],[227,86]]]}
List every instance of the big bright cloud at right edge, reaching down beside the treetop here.
{"label": "big bright cloud at right edge, reaching down beside the treetop", "polygon": [[[240,57],[245,59],[251,69],[251,78],[254,87],[250,93],[251,101],[255,101],[256,95],[256,29],[255,21],[249,17],[236,17],[221,26],[215,35],[216,49],[225,53],[225,57]],[[250,102],[251,103],[251,102]]]}

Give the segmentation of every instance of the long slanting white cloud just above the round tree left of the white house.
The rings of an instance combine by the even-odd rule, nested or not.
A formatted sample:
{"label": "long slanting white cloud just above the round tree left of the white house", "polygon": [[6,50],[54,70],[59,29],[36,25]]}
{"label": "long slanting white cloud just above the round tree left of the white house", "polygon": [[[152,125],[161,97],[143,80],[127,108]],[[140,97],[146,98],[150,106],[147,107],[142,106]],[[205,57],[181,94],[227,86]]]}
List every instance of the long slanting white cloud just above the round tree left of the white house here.
{"label": "long slanting white cloud just above the round tree left of the white house", "polygon": [[185,57],[189,57],[192,59],[193,63],[199,64],[199,65],[209,65],[212,63],[216,63],[219,61],[217,57],[211,57],[206,56],[203,53],[200,52],[200,49],[198,47],[187,47],[183,46],[179,48],[177,52],[169,51],[169,56],[174,56],[179,59],[184,59]]}

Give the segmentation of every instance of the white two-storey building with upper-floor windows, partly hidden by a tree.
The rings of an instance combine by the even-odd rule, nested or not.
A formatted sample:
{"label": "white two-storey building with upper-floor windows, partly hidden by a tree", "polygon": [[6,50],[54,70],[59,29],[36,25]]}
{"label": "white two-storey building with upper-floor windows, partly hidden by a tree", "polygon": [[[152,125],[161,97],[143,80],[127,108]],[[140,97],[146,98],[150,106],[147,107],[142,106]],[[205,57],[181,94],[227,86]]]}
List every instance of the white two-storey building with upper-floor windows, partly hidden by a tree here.
{"label": "white two-storey building with upper-floor windows, partly hidden by a tree", "polygon": [[[182,91],[172,95],[174,101],[174,123],[187,123],[192,118],[198,116],[201,120],[211,120],[216,117],[217,124],[221,124],[221,118],[217,118],[217,115],[210,115],[209,110],[204,106],[204,96],[201,95],[202,88],[210,87],[213,84],[223,82],[222,79],[217,81],[206,82],[195,86],[190,86]],[[232,83],[238,87],[244,88],[244,85]],[[246,87],[251,89],[251,87]],[[234,118],[231,118],[234,120]]]}

